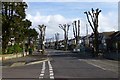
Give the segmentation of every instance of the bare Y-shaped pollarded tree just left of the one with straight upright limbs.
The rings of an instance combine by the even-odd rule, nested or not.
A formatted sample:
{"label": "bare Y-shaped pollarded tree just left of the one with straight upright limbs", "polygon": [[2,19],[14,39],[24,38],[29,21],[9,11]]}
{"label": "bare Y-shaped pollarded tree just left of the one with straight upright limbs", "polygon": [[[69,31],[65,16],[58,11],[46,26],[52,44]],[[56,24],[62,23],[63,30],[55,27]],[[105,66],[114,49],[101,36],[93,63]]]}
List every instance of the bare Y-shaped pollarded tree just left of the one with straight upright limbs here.
{"label": "bare Y-shaped pollarded tree just left of the one with straight upright limbs", "polygon": [[59,24],[59,27],[64,31],[64,50],[67,50],[68,49],[68,45],[67,45],[67,42],[68,42],[68,31],[69,31],[69,27],[70,25],[69,24]]}

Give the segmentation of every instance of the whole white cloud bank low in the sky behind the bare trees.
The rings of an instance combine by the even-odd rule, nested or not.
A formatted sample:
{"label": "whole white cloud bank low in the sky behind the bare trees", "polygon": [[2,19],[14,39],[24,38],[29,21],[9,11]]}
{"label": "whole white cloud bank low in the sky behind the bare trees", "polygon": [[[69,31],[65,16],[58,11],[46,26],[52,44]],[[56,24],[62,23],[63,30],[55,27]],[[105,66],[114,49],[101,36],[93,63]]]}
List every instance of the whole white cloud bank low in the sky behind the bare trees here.
{"label": "whole white cloud bank low in the sky behind the bare trees", "polygon": [[[114,16],[114,17],[113,17]],[[62,29],[60,29],[58,26],[59,24],[65,24],[69,23],[71,24],[74,20],[78,20],[80,18],[74,18],[74,19],[68,19],[60,14],[56,15],[41,15],[40,12],[37,12],[36,15],[27,14],[27,19],[32,21],[32,27],[35,28],[38,32],[38,25],[45,24],[47,26],[46,28],[46,38],[54,37],[55,33],[60,33],[60,39],[64,38],[64,32]],[[107,16],[100,14],[99,15],[99,32],[105,32],[105,31],[115,31],[117,30],[117,16],[115,16],[114,13],[108,13]],[[80,33],[81,35],[86,35],[86,24],[88,24],[88,33],[92,33],[92,29],[89,26],[89,23],[86,19],[81,18],[81,29]],[[69,29],[69,38],[73,38],[73,31],[72,31],[72,25]]]}

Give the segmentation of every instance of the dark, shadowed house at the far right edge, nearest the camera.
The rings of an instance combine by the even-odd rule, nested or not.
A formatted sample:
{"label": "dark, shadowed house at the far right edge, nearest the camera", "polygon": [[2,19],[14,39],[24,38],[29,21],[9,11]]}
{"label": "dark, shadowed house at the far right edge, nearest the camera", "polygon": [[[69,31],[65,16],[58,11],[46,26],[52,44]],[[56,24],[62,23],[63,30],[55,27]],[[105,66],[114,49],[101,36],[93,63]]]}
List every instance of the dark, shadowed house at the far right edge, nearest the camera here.
{"label": "dark, shadowed house at the far right edge, nearest the camera", "polygon": [[106,40],[107,52],[104,54],[105,58],[120,60],[120,31],[116,31],[109,35]]}

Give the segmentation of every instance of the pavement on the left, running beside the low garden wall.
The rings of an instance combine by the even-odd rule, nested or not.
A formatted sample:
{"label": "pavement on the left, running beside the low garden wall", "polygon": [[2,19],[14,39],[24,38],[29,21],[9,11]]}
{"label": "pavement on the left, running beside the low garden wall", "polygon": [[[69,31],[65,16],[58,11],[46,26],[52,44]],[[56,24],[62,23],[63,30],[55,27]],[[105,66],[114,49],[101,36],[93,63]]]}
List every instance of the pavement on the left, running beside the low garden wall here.
{"label": "pavement on the left, running beside the low garden wall", "polygon": [[32,55],[27,55],[24,57],[18,57],[18,58],[11,58],[7,60],[3,60],[1,66],[6,67],[17,67],[17,66],[24,66],[24,65],[30,65],[34,63],[38,63],[44,60],[47,60],[47,55],[41,55],[38,52],[34,52]]}

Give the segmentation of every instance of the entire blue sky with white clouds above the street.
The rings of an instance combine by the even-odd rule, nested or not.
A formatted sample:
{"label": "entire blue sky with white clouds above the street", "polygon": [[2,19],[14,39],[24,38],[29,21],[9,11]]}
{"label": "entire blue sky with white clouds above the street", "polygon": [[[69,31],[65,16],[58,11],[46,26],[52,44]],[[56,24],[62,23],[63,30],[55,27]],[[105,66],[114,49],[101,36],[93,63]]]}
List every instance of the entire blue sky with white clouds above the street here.
{"label": "entire blue sky with white clouds above the street", "polygon": [[[85,11],[91,8],[99,8],[99,32],[109,32],[118,30],[118,2],[27,2],[26,18],[32,21],[31,28],[38,32],[38,25],[45,24],[46,39],[54,37],[55,33],[60,34],[60,39],[64,38],[64,32],[59,24],[71,24],[74,20],[80,20],[80,35],[86,35],[86,24],[88,33],[93,31],[87,22]],[[70,26],[68,37],[73,38],[72,25]]]}

